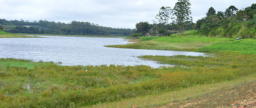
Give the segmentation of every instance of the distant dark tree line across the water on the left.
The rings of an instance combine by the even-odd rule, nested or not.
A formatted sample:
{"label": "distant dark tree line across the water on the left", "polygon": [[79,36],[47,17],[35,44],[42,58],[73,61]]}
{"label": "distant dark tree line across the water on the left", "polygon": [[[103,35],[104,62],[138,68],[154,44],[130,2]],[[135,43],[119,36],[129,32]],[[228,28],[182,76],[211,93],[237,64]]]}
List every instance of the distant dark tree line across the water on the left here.
{"label": "distant dark tree line across the water on the left", "polygon": [[[111,28],[99,26],[90,22],[72,21],[61,23],[47,20],[5,20],[0,19],[1,25],[15,25],[11,29],[4,29],[9,33],[28,33],[28,34],[72,34],[72,35],[119,35],[128,36],[133,32],[132,29]],[[25,27],[27,26],[27,27]],[[30,26],[30,27],[28,27]]]}

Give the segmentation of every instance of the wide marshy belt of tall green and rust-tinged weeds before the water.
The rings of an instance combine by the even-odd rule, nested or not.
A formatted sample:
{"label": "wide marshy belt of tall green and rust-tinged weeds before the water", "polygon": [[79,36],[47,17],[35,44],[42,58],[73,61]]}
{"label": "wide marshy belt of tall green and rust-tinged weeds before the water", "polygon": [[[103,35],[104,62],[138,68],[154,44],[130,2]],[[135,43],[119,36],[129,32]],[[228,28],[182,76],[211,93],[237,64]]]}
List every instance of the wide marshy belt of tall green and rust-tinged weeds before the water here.
{"label": "wide marshy belt of tall green and rust-tinged weeds before the water", "polygon": [[[88,71],[85,71],[84,66],[60,66],[52,63],[35,64],[32,69],[6,66],[5,69],[0,69],[1,107],[95,105],[232,80],[255,74],[256,70],[256,56],[240,52],[219,52],[216,57],[147,57],[149,58],[157,61],[163,60],[162,58],[177,58],[176,62],[170,64],[183,66],[153,69],[142,65],[101,65],[87,66]],[[31,63],[28,60],[0,60]]]}

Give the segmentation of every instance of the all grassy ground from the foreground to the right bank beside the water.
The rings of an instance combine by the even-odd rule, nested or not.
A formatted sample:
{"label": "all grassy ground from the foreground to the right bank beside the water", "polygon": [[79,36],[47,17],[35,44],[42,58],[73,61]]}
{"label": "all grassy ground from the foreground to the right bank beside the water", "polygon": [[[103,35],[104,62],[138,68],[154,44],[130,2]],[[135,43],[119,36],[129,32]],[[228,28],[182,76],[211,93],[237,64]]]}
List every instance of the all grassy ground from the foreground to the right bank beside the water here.
{"label": "all grassy ground from the foreground to the right bank beside the water", "polygon": [[[175,65],[156,69],[143,65],[61,66],[53,62],[0,59],[0,107],[158,107],[256,81],[255,39],[190,34],[143,37],[139,41],[122,46],[209,53],[205,57],[139,57]],[[201,107],[224,106],[239,98],[232,99],[222,104],[217,104],[221,100],[211,101]]]}

